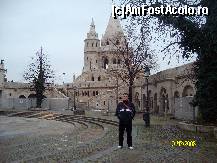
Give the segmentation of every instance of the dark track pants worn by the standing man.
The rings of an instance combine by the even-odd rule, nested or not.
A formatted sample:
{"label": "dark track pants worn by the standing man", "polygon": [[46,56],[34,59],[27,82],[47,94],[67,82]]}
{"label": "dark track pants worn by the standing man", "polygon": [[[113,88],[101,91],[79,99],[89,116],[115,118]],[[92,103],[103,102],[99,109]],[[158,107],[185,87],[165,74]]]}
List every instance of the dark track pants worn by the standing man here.
{"label": "dark track pants worn by the standing man", "polygon": [[128,124],[119,123],[119,145],[123,146],[124,131],[127,131],[127,144],[128,147],[132,147],[132,122]]}

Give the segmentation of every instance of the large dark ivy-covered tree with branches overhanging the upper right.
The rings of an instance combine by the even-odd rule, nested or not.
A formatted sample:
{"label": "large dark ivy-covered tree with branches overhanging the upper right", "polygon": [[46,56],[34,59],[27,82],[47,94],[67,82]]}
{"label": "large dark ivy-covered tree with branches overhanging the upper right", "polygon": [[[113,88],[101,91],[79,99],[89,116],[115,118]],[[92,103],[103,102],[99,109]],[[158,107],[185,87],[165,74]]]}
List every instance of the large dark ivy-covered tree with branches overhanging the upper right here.
{"label": "large dark ivy-covered tree with branches overhanging the upper right", "polygon": [[[165,56],[180,56],[188,59],[196,56],[194,73],[196,78],[196,96],[194,105],[199,106],[202,119],[207,122],[216,122],[217,115],[217,1],[216,0],[118,0],[122,4],[141,6],[147,4],[153,7],[173,5],[176,7],[206,7],[209,16],[188,15],[155,15],[130,17],[132,24],[150,28],[156,31],[158,38],[169,36],[165,40],[162,52]],[[153,37],[150,32],[149,37]],[[166,45],[167,43],[167,45]],[[181,54],[181,55],[180,55]]]}

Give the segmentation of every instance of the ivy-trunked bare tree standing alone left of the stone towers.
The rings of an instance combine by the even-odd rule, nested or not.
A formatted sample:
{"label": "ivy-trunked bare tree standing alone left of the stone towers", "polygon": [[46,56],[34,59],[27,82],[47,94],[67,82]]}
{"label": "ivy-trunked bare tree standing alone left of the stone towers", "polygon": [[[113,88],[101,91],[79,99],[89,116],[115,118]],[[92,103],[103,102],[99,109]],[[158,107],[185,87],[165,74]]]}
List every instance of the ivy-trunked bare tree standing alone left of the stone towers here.
{"label": "ivy-trunked bare tree standing alone left of the stone towers", "polygon": [[42,99],[46,86],[53,82],[54,72],[51,69],[47,55],[43,53],[42,47],[37,51],[35,57],[32,57],[32,63],[28,66],[28,70],[24,72],[23,77],[31,83],[31,87],[36,93],[37,107],[41,108]]}

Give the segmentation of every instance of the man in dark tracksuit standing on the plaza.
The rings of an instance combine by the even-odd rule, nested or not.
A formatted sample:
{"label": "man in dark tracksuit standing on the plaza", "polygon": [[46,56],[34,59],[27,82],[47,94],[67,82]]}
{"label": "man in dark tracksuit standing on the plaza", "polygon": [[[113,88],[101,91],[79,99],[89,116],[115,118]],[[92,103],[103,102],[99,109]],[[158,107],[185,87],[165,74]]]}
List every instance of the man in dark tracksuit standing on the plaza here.
{"label": "man in dark tracksuit standing on the plaza", "polygon": [[129,102],[128,94],[124,93],[122,97],[123,101],[120,102],[116,109],[116,116],[119,119],[119,146],[123,147],[124,131],[127,132],[127,145],[129,149],[133,149],[132,146],[132,119],[135,116],[135,106]]}

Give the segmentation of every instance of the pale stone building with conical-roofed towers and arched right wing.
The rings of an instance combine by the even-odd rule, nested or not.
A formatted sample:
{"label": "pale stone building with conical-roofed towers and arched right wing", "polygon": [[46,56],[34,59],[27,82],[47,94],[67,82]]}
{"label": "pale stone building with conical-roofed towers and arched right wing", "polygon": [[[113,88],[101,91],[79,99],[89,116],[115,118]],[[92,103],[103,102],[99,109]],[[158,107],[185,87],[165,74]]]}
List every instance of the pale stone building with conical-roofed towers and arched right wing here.
{"label": "pale stone building with conical-roofed towers and arched right wing", "polygon": [[[84,67],[82,74],[73,79],[67,90],[77,104],[84,103],[86,108],[114,111],[117,101],[128,87],[120,79],[111,75],[111,71],[121,67],[122,60],[115,55],[115,46],[109,40],[117,35],[124,36],[118,19],[110,17],[101,40],[95,31],[92,20],[90,30],[84,40]],[[117,44],[121,44],[118,42]],[[192,64],[164,70],[149,77],[149,107],[152,112],[174,114],[174,102],[177,97],[193,96],[194,84],[186,80]],[[146,80],[141,74],[133,87],[133,102],[137,110],[146,107]]]}

